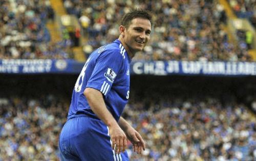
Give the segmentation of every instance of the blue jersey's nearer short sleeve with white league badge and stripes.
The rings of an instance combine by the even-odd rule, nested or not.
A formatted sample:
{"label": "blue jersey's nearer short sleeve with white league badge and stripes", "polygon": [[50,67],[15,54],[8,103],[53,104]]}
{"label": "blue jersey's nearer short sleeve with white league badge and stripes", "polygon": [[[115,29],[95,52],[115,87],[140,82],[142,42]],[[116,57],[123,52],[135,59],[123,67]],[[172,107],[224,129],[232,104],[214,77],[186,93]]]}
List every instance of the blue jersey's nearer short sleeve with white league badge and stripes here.
{"label": "blue jersey's nearer short sleeve with white league badge and stripes", "polygon": [[87,87],[99,90],[106,96],[123,65],[123,57],[118,51],[110,50],[100,53]]}

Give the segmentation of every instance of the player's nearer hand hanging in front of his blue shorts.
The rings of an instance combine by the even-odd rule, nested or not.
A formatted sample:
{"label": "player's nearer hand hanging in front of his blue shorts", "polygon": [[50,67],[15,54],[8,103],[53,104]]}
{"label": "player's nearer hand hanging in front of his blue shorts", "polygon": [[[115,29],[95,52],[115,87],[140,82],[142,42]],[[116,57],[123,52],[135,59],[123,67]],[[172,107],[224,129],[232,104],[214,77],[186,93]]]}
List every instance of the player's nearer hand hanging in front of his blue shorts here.
{"label": "player's nearer hand hanging in front of his blue shorts", "polygon": [[120,154],[121,151],[124,152],[127,146],[127,140],[123,130],[118,124],[116,124],[109,127],[109,133],[112,142],[112,149],[115,150],[115,153]]}

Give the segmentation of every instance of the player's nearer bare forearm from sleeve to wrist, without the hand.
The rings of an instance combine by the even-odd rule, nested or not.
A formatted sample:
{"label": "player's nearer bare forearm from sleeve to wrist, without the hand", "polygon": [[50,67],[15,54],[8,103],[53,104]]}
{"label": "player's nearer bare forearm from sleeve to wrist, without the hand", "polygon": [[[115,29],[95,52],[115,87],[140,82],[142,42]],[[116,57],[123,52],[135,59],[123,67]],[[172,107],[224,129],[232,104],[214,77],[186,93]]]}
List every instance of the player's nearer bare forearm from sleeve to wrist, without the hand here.
{"label": "player's nearer bare forearm from sleeve to wrist, without the hand", "polygon": [[106,126],[110,127],[112,125],[117,125],[116,120],[106,108],[102,94],[98,90],[86,88],[83,94],[86,96],[92,111],[106,124]]}

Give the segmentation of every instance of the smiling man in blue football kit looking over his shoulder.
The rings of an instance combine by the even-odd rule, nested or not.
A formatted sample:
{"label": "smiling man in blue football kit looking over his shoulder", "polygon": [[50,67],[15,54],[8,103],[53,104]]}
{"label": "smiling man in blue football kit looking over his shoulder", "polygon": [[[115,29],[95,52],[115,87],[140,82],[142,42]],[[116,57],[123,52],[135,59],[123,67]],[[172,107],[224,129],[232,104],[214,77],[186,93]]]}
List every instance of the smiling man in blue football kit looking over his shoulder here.
{"label": "smiling man in blue football kit looking over his shoulder", "polygon": [[126,13],[114,42],[92,52],[77,78],[68,120],[59,137],[61,160],[129,160],[127,140],[137,153],[145,143],[122,117],[130,93],[130,62],[150,40],[152,16]]}

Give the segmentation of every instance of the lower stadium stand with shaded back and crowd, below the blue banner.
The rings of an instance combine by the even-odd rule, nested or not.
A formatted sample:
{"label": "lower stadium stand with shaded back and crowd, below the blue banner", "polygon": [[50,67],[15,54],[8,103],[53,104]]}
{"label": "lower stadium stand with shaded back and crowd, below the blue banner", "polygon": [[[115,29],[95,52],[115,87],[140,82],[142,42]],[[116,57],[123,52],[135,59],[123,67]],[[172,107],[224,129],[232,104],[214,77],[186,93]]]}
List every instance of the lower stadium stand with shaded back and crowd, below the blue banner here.
{"label": "lower stadium stand with shaded back and crowd, below the blue banner", "polygon": [[[2,89],[22,88],[0,93],[0,160],[58,160],[58,134],[76,79],[69,76],[66,82],[62,81],[66,75],[3,76],[13,81],[2,81]],[[256,121],[239,97],[255,88],[234,88],[253,81],[133,76],[131,100],[123,117],[142,133],[147,148],[138,155],[128,143],[131,160],[255,159]],[[33,93],[34,89],[38,92]]]}

